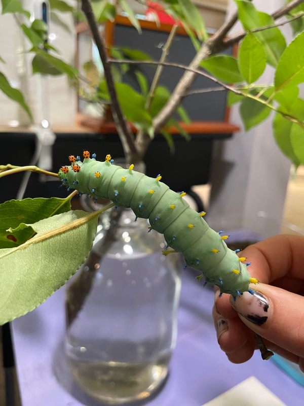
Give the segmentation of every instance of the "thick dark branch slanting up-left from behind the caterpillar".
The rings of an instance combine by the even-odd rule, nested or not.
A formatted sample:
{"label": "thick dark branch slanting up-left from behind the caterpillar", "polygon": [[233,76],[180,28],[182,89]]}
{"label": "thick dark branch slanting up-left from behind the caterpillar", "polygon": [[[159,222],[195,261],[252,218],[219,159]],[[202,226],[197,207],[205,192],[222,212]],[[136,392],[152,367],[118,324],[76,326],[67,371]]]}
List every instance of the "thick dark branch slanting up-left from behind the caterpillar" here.
{"label": "thick dark branch slanting up-left from behind the caterpillar", "polygon": [[111,72],[111,67],[108,62],[108,57],[105,51],[104,39],[99,34],[98,26],[89,0],[82,0],[82,11],[84,12],[88,20],[88,24],[90,26],[93,39],[98,49],[101,62],[103,64],[104,77],[107,83],[109,95],[112,102],[111,111],[123,145],[126,159],[127,161],[136,162],[139,160],[139,154],[135,146],[134,136],[125,120],[125,117],[121,110],[121,106],[119,104],[118,95],[115,89],[115,83]]}

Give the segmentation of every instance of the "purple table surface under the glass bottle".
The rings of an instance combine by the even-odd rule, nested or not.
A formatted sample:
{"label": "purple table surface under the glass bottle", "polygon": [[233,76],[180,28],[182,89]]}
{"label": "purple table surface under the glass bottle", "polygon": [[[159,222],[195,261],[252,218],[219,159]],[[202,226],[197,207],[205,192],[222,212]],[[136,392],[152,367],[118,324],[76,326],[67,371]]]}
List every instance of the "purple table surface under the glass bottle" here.
{"label": "purple table surface under the glass bottle", "polygon": [[[304,387],[259,352],[232,364],[220,350],[211,309],[213,290],[183,273],[178,336],[169,378],[148,406],[201,406],[255,376],[287,405],[303,404]],[[72,381],[64,356],[64,288],[13,323],[13,343],[23,406],[100,406]],[[138,404],[138,403],[137,403]],[[142,404],[142,403],[140,403]]]}

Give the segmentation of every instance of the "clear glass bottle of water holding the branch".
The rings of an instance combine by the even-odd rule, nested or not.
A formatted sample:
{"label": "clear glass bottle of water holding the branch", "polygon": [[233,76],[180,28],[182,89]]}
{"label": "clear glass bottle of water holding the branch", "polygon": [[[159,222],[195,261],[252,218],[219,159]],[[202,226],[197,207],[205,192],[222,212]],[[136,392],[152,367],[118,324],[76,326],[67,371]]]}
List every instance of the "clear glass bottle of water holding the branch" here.
{"label": "clear glass bottle of water holding the branch", "polygon": [[168,373],[182,265],[163,235],[131,209],[100,216],[92,251],[67,286],[71,374],[109,404],[143,399]]}

